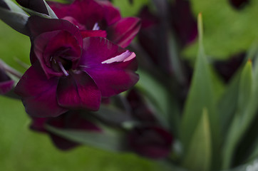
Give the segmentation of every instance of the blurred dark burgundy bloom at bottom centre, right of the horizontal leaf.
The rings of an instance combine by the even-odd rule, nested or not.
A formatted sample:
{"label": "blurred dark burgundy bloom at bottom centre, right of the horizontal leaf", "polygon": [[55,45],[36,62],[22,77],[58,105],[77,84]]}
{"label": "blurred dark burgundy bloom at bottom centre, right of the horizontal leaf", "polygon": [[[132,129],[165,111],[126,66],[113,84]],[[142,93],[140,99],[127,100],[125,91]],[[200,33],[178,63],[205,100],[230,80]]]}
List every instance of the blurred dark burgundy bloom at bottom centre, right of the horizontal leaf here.
{"label": "blurred dark burgundy bloom at bottom centre, right of the horizontal leaf", "polygon": [[129,145],[139,155],[160,159],[167,157],[172,145],[172,135],[160,127],[135,128],[128,135]]}

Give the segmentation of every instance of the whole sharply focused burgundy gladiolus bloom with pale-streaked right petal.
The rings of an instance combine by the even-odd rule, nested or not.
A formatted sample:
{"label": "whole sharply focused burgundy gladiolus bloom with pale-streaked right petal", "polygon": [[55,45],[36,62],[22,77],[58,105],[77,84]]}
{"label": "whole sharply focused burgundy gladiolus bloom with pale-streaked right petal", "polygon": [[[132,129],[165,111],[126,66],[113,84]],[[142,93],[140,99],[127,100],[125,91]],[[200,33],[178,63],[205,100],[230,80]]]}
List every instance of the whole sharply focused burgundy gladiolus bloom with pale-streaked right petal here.
{"label": "whole sharply focused burgundy gladiolus bloom with pale-streaked right petal", "polygon": [[38,16],[31,16],[28,26],[32,66],[15,91],[29,115],[55,117],[69,109],[98,110],[101,97],[128,90],[138,81],[135,53],[96,37],[101,31],[83,35],[69,21]]}

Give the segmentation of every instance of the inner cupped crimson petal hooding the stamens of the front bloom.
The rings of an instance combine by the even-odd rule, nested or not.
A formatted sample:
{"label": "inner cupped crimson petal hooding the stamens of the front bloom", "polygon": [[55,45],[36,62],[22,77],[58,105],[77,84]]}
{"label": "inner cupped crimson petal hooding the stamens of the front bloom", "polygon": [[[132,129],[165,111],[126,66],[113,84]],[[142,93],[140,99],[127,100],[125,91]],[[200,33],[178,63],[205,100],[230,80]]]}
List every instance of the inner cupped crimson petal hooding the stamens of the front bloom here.
{"label": "inner cupped crimson petal hooding the stamens of the front bloom", "polygon": [[55,56],[61,56],[61,58],[70,61],[73,69],[76,68],[78,59],[81,57],[81,47],[76,38],[68,31],[41,33],[33,41],[33,51],[48,78],[63,76],[58,64],[52,65],[53,60],[56,60]]}

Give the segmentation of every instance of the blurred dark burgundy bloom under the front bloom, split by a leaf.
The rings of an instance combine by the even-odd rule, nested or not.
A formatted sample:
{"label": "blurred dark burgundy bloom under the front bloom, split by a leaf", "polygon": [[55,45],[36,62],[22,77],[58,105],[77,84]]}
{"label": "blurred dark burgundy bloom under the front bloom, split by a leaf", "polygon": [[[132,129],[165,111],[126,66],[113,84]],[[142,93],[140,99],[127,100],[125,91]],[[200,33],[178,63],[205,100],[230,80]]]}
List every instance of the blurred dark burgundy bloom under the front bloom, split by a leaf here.
{"label": "blurred dark burgundy bloom under the front bloom, split by a leaf", "polygon": [[101,133],[101,129],[98,128],[97,125],[86,120],[86,118],[83,118],[83,116],[76,111],[69,111],[56,118],[32,118],[31,129],[47,133],[51,137],[54,145],[56,145],[60,150],[70,150],[79,144],[49,132],[44,128],[46,124],[60,129],[73,129]]}

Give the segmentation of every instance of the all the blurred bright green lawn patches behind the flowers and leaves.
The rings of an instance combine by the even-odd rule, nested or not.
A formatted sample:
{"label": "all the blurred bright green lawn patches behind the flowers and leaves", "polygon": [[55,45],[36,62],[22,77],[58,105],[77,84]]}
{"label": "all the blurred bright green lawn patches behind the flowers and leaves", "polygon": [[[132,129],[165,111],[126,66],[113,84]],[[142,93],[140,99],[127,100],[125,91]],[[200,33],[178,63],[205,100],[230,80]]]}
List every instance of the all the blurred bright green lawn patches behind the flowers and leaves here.
{"label": "all the blurred bright green lawn patches behind the flowers and leaves", "polygon": [[[251,1],[241,11],[225,0],[192,0],[193,14],[202,12],[205,26],[205,50],[208,56],[226,59],[246,51],[258,37],[258,1]],[[123,16],[137,14],[148,0],[114,0]],[[176,17],[176,16],[175,16]],[[0,21],[0,58],[19,71],[19,62],[29,63],[29,38]],[[192,59],[197,43],[183,51]],[[0,169],[1,170],[160,170],[159,165],[133,154],[115,154],[91,147],[77,147],[68,152],[57,150],[47,135],[28,128],[29,118],[20,101],[0,97]]]}

